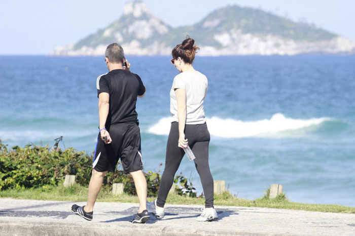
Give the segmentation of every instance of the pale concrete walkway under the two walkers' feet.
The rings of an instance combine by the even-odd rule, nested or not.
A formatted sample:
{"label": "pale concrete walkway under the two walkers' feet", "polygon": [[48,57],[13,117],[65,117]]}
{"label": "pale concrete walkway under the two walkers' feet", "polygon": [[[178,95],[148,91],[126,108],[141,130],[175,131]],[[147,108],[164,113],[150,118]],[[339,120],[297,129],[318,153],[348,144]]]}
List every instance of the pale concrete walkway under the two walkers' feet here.
{"label": "pale concrete walkway under the two walkers' feet", "polygon": [[138,204],[98,202],[92,221],[73,204],[0,198],[0,235],[355,235],[355,214],[216,206],[218,220],[197,222],[201,206],[166,205],[164,219],[132,224]]}

